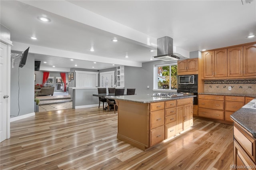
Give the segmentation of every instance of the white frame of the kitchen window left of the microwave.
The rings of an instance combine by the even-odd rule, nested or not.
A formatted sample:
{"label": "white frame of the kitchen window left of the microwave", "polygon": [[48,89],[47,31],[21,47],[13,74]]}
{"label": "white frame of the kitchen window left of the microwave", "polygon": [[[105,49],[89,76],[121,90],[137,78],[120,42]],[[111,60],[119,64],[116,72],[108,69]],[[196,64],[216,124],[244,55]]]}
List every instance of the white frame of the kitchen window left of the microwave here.
{"label": "white frame of the kitchen window left of the microwave", "polygon": [[[170,81],[170,84],[169,84],[169,89],[158,89],[158,67],[163,67],[163,66],[171,67],[172,65],[177,65],[177,62],[154,65],[153,91],[177,92],[177,89],[170,89],[171,88],[171,81]],[[171,73],[170,73],[169,76],[170,76],[170,80],[171,80]]]}

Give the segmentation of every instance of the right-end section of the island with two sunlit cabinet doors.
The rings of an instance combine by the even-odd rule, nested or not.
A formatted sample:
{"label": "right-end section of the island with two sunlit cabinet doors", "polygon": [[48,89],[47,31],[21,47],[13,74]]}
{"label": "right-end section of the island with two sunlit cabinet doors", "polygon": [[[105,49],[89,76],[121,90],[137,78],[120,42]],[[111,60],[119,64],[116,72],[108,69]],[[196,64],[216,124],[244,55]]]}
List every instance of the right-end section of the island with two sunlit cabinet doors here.
{"label": "right-end section of the island with two sunlit cabinet doors", "polygon": [[[182,100],[182,101],[181,101]],[[176,132],[179,133],[193,125],[193,99],[177,100]]]}

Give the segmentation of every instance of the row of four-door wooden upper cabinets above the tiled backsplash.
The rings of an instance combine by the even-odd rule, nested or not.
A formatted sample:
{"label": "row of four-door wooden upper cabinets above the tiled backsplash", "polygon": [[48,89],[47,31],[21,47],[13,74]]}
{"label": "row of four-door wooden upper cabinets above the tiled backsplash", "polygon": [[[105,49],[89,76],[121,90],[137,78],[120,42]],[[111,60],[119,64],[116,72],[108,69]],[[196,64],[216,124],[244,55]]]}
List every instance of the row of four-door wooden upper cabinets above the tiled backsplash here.
{"label": "row of four-door wooden upper cabinets above the tiled backsplash", "polygon": [[256,44],[202,53],[203,79],[255,78]]}

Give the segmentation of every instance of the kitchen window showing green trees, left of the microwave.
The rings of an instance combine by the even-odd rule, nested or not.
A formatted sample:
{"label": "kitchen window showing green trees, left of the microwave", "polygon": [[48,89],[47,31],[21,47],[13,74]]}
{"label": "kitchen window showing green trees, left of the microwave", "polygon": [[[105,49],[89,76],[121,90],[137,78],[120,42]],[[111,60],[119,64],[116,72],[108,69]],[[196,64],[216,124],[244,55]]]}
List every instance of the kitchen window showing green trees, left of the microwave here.
{"label": "kitchen window showing green trees, left of the microwave", "polygon": [[177,63],[155,65],[154,89],[177,90]]}

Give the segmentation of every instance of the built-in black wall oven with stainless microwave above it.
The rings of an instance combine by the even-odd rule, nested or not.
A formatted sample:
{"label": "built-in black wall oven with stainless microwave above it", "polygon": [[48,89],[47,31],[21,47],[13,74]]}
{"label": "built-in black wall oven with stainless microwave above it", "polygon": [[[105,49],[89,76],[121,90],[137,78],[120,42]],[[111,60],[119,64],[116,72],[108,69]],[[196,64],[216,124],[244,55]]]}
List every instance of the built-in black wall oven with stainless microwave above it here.
{"label": "built-in black wall oven with stainless microwave above it", "polygon": [[193,104],[198,104],[198,74],[195,75],[178,75],[177,92],[187,95],[196,95]]}

